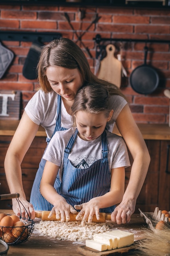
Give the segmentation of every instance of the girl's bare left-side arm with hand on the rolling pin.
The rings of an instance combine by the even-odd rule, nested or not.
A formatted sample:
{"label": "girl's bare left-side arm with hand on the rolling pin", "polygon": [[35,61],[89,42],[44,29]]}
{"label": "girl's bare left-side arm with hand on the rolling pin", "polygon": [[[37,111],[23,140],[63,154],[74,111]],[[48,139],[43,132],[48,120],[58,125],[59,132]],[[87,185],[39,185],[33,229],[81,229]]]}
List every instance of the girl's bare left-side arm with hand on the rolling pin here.
{"label": "girl's bare left-side arm with hand on the rolling pin", "polygon": [[64,222],[65,220],[70,220],[70,212],[77,213],[77,211],[54,188],[54,182],[59,168],[59,166],[46,161],[40,183],[40,192],[47,201],[54,205],[49,218],[52,213],[55,213],[56,219],[61,219],[61,222]]}

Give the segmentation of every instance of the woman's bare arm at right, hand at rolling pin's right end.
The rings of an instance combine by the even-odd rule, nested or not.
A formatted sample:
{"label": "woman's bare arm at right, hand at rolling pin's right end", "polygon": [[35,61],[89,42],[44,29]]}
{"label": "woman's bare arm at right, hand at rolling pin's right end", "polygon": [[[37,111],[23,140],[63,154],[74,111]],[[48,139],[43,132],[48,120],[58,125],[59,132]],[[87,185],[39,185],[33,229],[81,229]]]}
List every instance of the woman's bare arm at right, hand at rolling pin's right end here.
{"label": "woman's bare arm at right, hand at rolling pin's right end", "polygon": [[150,155],[128,104],[121,110],[116,125],[134,160],[123,200],[111,214],[112,221],[121,224],[129,222],[130,216],[135,211],[136,200],[150,164]]}

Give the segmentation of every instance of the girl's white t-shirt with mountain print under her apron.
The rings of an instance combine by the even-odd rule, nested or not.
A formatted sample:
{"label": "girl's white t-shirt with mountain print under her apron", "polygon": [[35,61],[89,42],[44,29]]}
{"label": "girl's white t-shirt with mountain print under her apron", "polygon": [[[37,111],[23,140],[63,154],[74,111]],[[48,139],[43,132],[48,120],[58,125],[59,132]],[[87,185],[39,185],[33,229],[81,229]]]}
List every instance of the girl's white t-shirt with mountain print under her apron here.
{"label": "girl's white t-shirt with mountain print under her apron", "polygon": [[[57,131],[52,137],[43,158],[60,166],[60,178],[63,168],[64,149],[67,146],[73,128],[64,131]],[[106,131],[108,143],[109,168],[130,166],[128,150],[124,139]],[[85,141],[77,135],[68,159],[77,168],[87,168],[96,160],[102,159],[102,135],[93,141]],[[83,161],[82,161],[83,160]],[[83,164],[81,164],[83,163]]]}

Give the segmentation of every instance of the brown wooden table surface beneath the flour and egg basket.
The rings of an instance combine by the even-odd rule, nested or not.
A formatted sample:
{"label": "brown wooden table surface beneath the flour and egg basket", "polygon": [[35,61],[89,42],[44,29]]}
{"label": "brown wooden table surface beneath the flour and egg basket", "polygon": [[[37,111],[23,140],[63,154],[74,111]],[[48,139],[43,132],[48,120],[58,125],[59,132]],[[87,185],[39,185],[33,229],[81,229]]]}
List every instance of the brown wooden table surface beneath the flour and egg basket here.
{"label": "brown wooden table surface beneath the flour and egg basket", "polygon": [[[0,213],[9,213],[13,214],[11,210],[0,210]],[[141,218],[140,214],[133,214],[131,216],[130,223],[117,225],[115,224],[115,228],[119,228],[121,230],[130,231],[134,233],[135,240],[139,240],[144,238],[142,228],[147,227],[143,218]],[[84,243],[85,244],[85,243]],[[48,238],[45,236],[38,236],[36,234],[32,234],[29,240],[25,243],[19,245],[9,246],[8,256],[80,256],[77,252],[77,247],[79,244],[76,244],[73,241],[68,240],[55,240],[54,238]],[[130,253],[126,253],[125,255],[131,255]],[[135,255],[134,252],[132,254]]]}

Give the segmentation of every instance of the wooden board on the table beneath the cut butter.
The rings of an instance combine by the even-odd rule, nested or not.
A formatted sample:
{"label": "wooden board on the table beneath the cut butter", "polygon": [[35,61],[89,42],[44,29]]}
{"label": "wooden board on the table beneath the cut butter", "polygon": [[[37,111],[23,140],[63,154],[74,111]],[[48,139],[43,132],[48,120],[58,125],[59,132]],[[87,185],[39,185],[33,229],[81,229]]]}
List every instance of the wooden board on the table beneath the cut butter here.
{"label": "wooden board on the table beneath the cut butter", "polygon": [[[107,250],[104,252],[99,252],[97,250],[91,249],[89,247],[80,246],[77,248],[77,252],[79,252],[82,255],[85,256],[111,256],[111,255],[117,255],[117,254],[124,254],[130,251],[137,251],[139,240],[135,241],[132,245],[118,248],[118,249],[113,249],[113,250]],[[138,251],[139,252],[139,251]]]}

